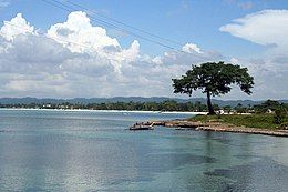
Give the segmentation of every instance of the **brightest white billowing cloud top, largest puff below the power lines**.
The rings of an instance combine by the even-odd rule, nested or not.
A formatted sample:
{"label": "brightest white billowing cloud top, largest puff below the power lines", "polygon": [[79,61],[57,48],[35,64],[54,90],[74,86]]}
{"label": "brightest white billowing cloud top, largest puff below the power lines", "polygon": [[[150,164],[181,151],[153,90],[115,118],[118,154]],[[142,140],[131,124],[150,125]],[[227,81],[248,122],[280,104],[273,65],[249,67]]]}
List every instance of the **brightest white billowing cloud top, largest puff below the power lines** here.
{"label": "brightest white billowing cloud top, largest puff below the power lines", "polygon": [[85,12],[75,11],[63,23],[51,26],[48,37],[63,44],[72,52],[89,53],[112,60],[116,72],[121,72],[123,61],[130,62],[138,57],[140,43],[132,42],[128,49],[121,48],[115,38],[106,34],[101,27],[93,27]]}

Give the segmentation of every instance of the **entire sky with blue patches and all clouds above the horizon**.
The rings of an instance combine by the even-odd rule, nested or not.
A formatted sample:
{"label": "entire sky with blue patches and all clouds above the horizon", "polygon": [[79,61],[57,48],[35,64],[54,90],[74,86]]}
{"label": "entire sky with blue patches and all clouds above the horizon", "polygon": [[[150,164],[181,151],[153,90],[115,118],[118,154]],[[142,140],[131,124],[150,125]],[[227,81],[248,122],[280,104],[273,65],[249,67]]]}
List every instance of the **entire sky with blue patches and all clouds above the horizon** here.
{"label": "entire sky with blue patches and all clouds above the horizon", "polygon": [[225,61],[255,88],[217,99],[288,99],[287,34],[286,0],[0,0],[0,98],[187,98],[171,79]]}

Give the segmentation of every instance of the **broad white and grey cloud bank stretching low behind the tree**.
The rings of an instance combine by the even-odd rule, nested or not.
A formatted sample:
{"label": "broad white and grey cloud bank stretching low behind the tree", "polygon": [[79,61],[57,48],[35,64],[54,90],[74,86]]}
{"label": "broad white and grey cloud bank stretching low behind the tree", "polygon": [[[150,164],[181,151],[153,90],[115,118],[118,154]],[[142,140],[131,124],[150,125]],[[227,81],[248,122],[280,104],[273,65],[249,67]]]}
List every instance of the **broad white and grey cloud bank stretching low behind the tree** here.
{"label": "broad white and grey cloud bank stretching low behind the tree", "polygon": [[[8,23],[28,28],[28,32]],[[84,12],[70,13],[65,22],[51,26],[45,34],[34,32],[21,14],[0,30],[1,97],[172,97],[172,78],[181,77],[192,64],[226,60],[219,52],[202,50],[194,43],[185,44],[184,52],[141,54],[137,41],[122,48],[105,29],[92,26]],[[280,78],[288,77],[287,57],[230,61],[248,67],[257,78],[257,98],[287,95],[287,89],[276,87]]]}

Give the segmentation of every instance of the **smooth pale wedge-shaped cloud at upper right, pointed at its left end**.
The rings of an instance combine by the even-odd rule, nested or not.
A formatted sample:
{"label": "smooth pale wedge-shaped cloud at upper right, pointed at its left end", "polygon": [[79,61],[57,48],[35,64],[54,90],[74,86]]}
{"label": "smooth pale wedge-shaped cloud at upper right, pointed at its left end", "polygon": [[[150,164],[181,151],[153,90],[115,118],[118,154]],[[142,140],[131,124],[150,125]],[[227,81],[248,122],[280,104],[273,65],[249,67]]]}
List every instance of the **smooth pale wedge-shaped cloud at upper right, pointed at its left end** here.
{"label": "smooth pale wedge-shaped cloud at upper right, pointed at its left end", "polygon": [[271,46],[277,52],[287,52],[288,10],[264,10],[247,14],[219,30],[258,44]]}

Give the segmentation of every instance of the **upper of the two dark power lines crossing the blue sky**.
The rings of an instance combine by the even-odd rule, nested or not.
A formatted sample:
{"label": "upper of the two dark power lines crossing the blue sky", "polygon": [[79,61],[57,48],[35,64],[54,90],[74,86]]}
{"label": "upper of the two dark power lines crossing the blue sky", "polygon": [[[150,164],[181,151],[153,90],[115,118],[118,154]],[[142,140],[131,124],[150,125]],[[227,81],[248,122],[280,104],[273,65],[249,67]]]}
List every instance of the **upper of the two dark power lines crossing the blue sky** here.
{"label": "upper of the two dark power lines crossing the blue sky", "polygon": [[89,12],[92,12],[92,13],[94,13],[94,14],[101,17],[101,18],[105,18],[105,19],[107,19],[107,20],[110,20],[110,21],[113,21],[113,22],[115,22],[115,23],[125,26],[125,27],[127,27],[127,28],[131,28],[131,29],[133,29],[133,30],[140,31],[140,32],[142,32],[142,33],[148,34],[148,36],[151,36],[151,37],[154,37],[154,38],[157,38],[157,39],[161,39],[161,40],[164,40],[164,41],[174,43],[174,44],[183,46],[182,43],[179,43],[179,42],[177,42],[177,41],[174,41],[174,40],[171,40],[171,39],[167,39],[167,38],[163,38],[163,37],[158,36],[158,34],[154,34],[154,33],[148,32],[148,31],[146,31],[146,30],[143,30],[143,29],[133,27],[133,26],[131,26],[131,24],[127,24],[127,23],[125,23],[125,22],[119,21],[119,20],[116,20],[116,19],[106,17],[106,16],[104,16],[104,14],[101,14],[101,13],[96,12],[96,11],[89,10],[88,8],[85,8],[85,7],[83,7],[83,6],[80,6],[80,4],[76,4],[76,3],[74,3],[74,2],[71,2],[71,1],[65,1],[65,2],[69,3],[69,4],[72,4],[72,6],[76,7],[76,8],[81,8],[81,9],[84,9],[84,10],[89,11]]}

